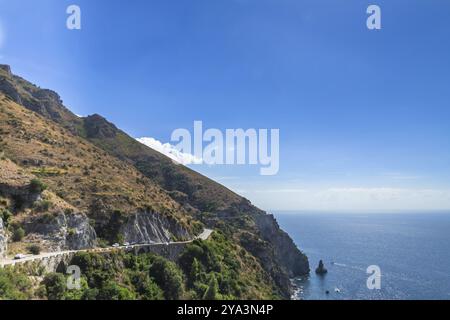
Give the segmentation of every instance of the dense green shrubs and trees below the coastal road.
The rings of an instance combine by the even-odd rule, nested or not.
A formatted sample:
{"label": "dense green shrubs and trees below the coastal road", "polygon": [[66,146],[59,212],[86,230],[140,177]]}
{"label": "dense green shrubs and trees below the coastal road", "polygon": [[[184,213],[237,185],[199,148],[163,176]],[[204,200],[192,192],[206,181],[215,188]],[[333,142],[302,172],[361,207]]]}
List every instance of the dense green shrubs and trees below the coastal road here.
{"label": "dense green shrubs and trees below the coastal road", "polygon": [[[0,299],[277,298],[254,258],[220,233],[189,244],[176,263],[153,254],[117,251],[77,253],[70,265],[81,270],[80,289],[69,290],[69,275],[62,272],[30,277],[23,270],[0,269]],[[40,281],[33,285],[37,278]]]}

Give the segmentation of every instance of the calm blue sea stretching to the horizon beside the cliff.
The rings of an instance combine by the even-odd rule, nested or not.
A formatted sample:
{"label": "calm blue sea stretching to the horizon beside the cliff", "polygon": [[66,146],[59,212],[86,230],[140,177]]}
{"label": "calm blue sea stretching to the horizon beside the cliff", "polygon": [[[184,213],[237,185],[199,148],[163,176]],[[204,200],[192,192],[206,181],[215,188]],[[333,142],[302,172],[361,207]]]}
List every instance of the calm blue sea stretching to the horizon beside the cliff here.
{"label": "calm blue sea stretching to the horizon beside the cliff", "polygon": [[[450,214],[286,213],[280,226],[328,274],[297,279],[299,299],[450,299]],[[367,267],[381,268],[381,290]],[[329,291],[329,294],[326,294]]]}

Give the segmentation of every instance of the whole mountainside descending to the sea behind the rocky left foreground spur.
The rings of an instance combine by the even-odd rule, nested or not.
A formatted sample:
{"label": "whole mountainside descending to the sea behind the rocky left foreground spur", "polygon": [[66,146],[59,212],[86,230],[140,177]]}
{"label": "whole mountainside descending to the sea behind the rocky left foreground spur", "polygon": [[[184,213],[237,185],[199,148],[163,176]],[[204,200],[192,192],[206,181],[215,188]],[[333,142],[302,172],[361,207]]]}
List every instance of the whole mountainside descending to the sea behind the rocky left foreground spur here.
{"label": "whole mountainside descending to the sea behind the rocky left foreground spur", "polygon": [[117,239],[127,225],[140,228],[139,215],[158,214],[163,233],[177,238],[201,224],[222,230],[258,259],[285,297],[289,277],[309,272],[307,258],[273,216],[236,193],[174,164],[100,115],[77,117],[58,94],[13,75],[9,66],[0,66],[0,93],[2,150],[85,211],[100,238]]}

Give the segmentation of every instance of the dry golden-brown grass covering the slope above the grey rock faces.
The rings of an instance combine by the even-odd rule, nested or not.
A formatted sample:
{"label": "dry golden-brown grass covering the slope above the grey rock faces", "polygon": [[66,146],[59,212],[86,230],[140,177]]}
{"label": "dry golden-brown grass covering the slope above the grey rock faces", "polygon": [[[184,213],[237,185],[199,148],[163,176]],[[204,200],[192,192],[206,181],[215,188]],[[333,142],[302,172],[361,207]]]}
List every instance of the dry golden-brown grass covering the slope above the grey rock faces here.
{"label": "dry golden-brown grass covering the slope above the grey rock faces", "polygon": [[114,210],[134,213],[153,208],[188,223],[183,208],[133,166],[3,95],[0,152],[4,158],[0,183],[23,185],[35,175],[81,211],[101,199]]}

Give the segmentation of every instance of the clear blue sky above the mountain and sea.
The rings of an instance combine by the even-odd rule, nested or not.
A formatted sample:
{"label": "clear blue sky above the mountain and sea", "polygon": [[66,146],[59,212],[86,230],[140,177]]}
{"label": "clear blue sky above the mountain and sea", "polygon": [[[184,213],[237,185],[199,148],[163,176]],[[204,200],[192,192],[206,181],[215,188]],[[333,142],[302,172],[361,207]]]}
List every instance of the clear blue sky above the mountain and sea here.
{"label": "clear blue sky above the mountain and sea", "polygon": [[276,176],[193,166],[268,210],[450,209],[449,36],[446,0],[0,0],[0,62],[77,114],[279,128]]}

